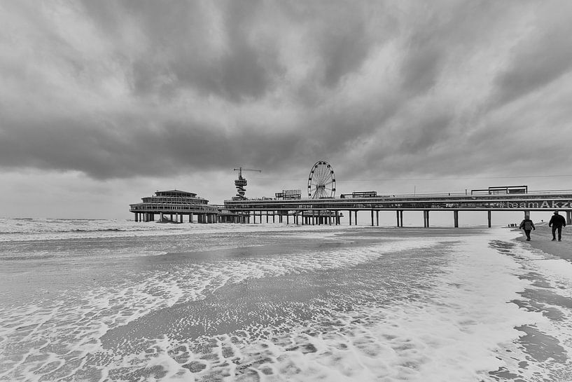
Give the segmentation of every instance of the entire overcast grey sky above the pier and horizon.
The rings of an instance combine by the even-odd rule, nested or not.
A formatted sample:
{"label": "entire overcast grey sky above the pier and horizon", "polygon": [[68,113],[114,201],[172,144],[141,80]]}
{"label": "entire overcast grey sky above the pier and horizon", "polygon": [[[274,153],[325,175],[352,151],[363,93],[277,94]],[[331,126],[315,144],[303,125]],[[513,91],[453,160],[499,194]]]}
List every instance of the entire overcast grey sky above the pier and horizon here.
{"label": "entire overcast grey sky above the pier and horizon", "polygon": [[572,189],[572,1],[0,0],[0,217]]}

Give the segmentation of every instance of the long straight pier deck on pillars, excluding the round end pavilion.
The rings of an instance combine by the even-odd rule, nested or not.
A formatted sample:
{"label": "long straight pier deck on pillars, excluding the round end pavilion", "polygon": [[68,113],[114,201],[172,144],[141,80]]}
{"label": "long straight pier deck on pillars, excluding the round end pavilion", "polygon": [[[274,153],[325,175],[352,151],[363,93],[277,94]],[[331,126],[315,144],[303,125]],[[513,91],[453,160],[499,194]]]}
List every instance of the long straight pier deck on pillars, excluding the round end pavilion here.
{"label": "long straight pier deck on pillars, excluding the round end pavilion", "polygon": [[[494,189],[494,188],[491,188]],[[479,192],[477,192],[479,191]],[[480,191],[487,191],[486,194]],[[567,224],[572,224],[572,191],[554,190],[526,193],[489,193],[490,189],[473,190],[462,194],[425,194],[402,196],[373,196],[352,198],[319,198],[298,200],[277,200],[272,198],[225,200],[224,209],[246,217],[256,224],[269,217],[275,221],[290,224],[340,224],[342,213],[347,212],[349,225],[358,224],[358,212],[370,212],[370,224],[379,226],[379,212],[394,212],[396,226],[403,226],[403,212],[417,211],[423,214],[424,227],[431,223],[431,212],[452,212],[452,225],[459,227],[459,215],[463,211],[487,212],[487,223],[491,226],[492,213],[500,211],[521,211],[525,217],[531,211],[565,213]],[[496,190],[495,192],[499,192]]]}

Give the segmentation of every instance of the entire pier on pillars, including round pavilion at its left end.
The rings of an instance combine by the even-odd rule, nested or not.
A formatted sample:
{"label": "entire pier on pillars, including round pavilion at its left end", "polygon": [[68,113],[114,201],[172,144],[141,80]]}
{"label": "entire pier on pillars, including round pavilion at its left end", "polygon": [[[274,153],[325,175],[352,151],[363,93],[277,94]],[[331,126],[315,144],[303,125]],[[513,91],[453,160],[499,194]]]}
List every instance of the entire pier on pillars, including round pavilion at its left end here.
{"label": "entire pier on pillars, including round pavilion at its left end", "polygon": [[224,205],[209,205],[195,193],[171,190],[157,191],[130,205],[135,221],[182,223],[282,223],[296,225],[340,225],[342,217],[349,225],[358,224],[358,212],[370,212],[371,226],[379,226],[379,213],[392,212],[396,226],[403,227],[403,212],[416,211],[423,216],[423,226],[431,225],[431,212],[450,211],[452,226],[459,227],[461,212],[487,212],[487,225],[492,225],[493,212],[520,211],[529,217],[532,211],[560,211],[566,224],[572,224],[572,190],[529,192],[507,187],[490,187],[470,193],[424,195],[384,195],[375,191],[342,194],[340,198],[233,198]]}

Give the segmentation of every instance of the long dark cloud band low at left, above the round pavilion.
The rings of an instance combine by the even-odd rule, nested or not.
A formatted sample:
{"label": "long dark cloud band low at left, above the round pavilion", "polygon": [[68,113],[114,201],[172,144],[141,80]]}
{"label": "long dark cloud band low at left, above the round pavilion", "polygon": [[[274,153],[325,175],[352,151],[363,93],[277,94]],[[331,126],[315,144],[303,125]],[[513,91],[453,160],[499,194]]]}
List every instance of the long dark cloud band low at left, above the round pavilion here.
{"label": "long dark cloud band low at left, above the round pavilion", "polygon": [[[78,170],[108,179],[139,175],[169,177],[183,172],[217,170],[236,163],[264,163],[280,168],[293,147],[295,135],[265,134],[240,126],[223,133],[196,121],[161,121],[160,127],[135,116],[111,121],[60,119],[27,121],[0,140],[4,168]],[[118,123],[119,122],[119,123]],[[121,123],[137,125],[128,132]]]}

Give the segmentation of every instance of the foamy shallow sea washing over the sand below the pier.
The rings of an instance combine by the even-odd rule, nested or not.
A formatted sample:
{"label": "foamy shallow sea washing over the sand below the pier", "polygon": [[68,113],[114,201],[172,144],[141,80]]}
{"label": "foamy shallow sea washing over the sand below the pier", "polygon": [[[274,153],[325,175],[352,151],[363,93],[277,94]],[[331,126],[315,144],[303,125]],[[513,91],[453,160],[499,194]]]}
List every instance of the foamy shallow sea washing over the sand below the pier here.
{"label": "foamy shallow sea washing over the sand below the pier", "polygon": [[0,219],[0,381],[572,381],[509,228]]}

